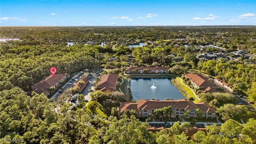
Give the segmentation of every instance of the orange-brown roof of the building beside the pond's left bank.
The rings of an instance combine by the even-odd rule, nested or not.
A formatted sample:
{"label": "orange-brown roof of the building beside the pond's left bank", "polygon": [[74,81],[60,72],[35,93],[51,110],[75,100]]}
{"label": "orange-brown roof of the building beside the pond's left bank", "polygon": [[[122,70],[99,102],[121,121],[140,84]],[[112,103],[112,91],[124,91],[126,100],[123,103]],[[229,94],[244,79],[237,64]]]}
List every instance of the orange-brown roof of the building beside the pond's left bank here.
{"label": "orange-brown roof of the building beside the pond's left bank", "polygon": [[104,87],[116,87],[118,74],[103,74],[100,81],[96,84],[99,89]]}

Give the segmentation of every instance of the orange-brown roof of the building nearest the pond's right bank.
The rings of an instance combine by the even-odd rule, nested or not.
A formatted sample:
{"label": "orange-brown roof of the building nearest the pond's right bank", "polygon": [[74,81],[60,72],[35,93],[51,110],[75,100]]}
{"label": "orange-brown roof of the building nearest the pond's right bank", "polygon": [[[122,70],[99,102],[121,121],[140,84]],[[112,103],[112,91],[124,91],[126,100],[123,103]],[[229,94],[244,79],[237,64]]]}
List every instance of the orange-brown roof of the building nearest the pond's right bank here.
{"label": "orange-brown roof of the building nearest the pond's right bank", "polygon": [[185,74],[185,76],[199,87],[216,87],[214,83],[200,74]]}

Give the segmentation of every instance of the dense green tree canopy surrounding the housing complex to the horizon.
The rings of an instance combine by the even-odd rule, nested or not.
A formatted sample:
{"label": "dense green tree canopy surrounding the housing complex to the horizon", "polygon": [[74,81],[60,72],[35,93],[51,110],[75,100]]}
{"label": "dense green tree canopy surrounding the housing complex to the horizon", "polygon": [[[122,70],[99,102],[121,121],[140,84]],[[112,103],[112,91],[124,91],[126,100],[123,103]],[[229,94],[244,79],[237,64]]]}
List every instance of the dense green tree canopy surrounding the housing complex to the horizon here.
{"label": "dense green tree canopy surrounding the housing complex to the horizon", "polygon": [[[20,39],[0,42],[0,140],[20,138],[24,144],[256,142],[256,120],[252,118],[255,114],[245,106],[234,106],[236,100],[230,95],[200,95],[202,100],[218,108],[226,122],[221,126],[207,126],[207,133],[198,131],[188,138],[186,132],[179,134],[181,129],[190,129],[187,123],[175,123],[169,130],[152,133],[147,131],[147,123],[133,115],[134,111],[126,111],[118,120],[116,106],[126,101],[120,92],[94,92],[92,98],[96,101],[86,110],[68,109],[64,97],[68,92],[58,102],[49,102],[44,94],[28,96],[26,93],[33,84],[50,75],[52,66],[58,73],[71,75],[98,68],[110,68],[110,72],[118,73],[126,66],[165,66],[168,72],[177,75],[192,69],[216,75],[256,102],[255,58],[200,61],[196,57],[202,52],[222,51],[197,48],[206,44],[226,48],[226,52],[244,50],[256,54],[255,26],[1,27],[0,38]],[[67,46],[67,42],[75,45]],[[102,42],[106,44],[98,46]],[[128,48],[140,42],[146,46]],[[118,59],[111,61],[111,57]],[[92,118],[98,104],[108,108],[107,117]],[[241,115],[246,120],[244,125],[238,122]],[[242,138],[236,137],[238,134]]]}

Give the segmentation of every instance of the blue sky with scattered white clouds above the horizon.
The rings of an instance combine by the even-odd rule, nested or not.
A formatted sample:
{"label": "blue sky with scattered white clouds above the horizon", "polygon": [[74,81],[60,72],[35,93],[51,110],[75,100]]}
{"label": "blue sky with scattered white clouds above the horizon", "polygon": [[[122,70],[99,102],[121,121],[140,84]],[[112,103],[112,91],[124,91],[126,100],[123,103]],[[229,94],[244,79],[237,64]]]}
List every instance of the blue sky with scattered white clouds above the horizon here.
{"label": "blue sky with scattered white clouds above the horizon", "polygon": [[0,26],[256,25],[256,0],[0,0]]}

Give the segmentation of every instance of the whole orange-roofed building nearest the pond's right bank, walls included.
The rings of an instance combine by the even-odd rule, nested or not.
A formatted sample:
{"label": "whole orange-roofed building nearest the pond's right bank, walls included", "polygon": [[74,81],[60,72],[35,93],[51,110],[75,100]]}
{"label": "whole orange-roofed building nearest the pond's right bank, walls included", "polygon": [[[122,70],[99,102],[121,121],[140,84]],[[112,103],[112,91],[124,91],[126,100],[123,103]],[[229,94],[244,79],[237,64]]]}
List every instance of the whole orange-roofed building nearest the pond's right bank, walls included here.
{"label": "whole orange-roofed building nearest the pond's right bank, walls included", "polygon": [[191,81],[191,85],[202,92],[218,92],[218,86],[200,74],[184,74]]}

